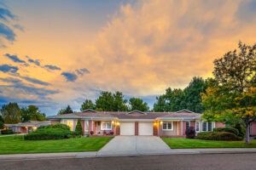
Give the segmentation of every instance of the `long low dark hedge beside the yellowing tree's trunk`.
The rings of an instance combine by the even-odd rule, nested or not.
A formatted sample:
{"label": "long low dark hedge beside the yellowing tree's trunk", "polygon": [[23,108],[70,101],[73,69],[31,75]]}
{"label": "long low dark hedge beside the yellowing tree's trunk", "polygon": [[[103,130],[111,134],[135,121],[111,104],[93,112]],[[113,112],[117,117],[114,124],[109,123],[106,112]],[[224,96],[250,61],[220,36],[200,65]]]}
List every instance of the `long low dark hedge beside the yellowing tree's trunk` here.
{"label": "long low dark hedge beside the yellowing tree's trunk", "polygon": [[242,140],[242,138],[236,136],[236,134],[228,132],[202,132],[198,133],[196,138],[204,140]]}

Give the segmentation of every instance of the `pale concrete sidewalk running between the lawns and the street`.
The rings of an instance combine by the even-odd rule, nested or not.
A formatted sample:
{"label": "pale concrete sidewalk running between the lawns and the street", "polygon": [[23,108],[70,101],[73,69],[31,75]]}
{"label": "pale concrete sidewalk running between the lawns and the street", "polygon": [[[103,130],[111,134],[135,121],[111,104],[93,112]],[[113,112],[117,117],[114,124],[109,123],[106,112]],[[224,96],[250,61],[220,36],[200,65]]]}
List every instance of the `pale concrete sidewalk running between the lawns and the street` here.
{"label": "pale concrete sidewalk running between the lawns and the street", "polygon": [[45,153],[45,154],[15,154],[0,155],[0,160],[38,160],[38,159],[65,159],[85,158],[104,156],[152,156],[152,155],[175,155],[175,154],[243,154],[256,153],[256,148],[230,148],[230,149],[172,149],[172,150],[141,150],[125,152],[66,152],[66,153]]}

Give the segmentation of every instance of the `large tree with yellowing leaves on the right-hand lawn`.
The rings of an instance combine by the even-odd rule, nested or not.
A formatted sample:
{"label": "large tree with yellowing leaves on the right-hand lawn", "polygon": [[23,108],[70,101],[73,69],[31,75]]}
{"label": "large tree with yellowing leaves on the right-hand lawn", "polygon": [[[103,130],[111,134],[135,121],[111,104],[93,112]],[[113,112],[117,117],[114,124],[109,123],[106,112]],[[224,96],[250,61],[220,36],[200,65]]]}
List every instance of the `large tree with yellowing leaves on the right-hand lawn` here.
{"label": "large tree with yellowing leaves on the right-hand lawn", "polygon": [[256,120],[256,44],[239,42],[239,52],[230,51],[214,60],[212,83],[203,94],[207,120],[231,122],[240,120],[246,127],[249,143],[250,123]]}

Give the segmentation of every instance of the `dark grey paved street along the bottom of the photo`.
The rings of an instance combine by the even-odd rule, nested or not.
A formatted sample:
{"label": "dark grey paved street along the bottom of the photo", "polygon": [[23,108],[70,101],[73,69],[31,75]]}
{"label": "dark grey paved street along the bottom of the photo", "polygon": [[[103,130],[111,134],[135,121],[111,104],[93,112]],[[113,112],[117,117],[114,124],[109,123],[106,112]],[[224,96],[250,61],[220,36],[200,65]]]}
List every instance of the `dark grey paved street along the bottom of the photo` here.
{"label": "dark grey paved street along the bottom of the photo", "polygon": [[81,159],[0,160],[0,169],[255,169],[256,154],[120,156]]}

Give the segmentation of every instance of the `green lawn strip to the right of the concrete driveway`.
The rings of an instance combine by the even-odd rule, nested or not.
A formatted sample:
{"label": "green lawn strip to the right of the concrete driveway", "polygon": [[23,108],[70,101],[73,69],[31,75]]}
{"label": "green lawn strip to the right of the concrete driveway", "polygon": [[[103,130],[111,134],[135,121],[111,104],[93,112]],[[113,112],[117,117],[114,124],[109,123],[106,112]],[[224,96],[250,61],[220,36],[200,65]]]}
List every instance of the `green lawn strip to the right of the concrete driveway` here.
{"label": "green lawn strip to the right of the concrete driveway", "polygon": [[216,141],[202,139],[162,138],[172,149],[185,148],[256,148],[256,140],[245,141]]}

